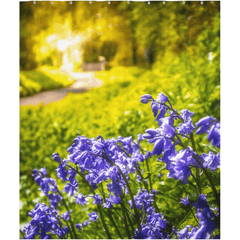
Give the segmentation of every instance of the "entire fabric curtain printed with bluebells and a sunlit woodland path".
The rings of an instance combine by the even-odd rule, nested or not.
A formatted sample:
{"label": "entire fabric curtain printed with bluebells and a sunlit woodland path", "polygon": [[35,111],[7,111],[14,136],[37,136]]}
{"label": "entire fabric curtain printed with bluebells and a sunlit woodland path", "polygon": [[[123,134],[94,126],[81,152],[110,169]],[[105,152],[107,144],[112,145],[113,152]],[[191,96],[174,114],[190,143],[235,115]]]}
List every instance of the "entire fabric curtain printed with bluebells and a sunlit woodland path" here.
{"label": "entire fabric curtain printed with bluebells and a sunlit woodland path", "polygon": [[20,2],[20,238],[220,238],[220,2]]}

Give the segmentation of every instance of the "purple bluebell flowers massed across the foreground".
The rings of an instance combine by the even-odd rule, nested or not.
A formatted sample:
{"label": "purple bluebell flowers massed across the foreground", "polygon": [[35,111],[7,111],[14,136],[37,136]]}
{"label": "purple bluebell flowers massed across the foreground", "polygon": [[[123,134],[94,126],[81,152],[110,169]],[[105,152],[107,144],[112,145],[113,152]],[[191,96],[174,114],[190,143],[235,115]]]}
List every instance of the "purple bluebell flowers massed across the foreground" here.
{"label": "purple bluebell flowers massed across the foreground", "polygon": [[[210,151],[200,155],[193,134],[195,131],[196,134],[207,133],[208,141],[219,148],[220,123],[208,116],[194,125],[192,120],[194,113],[187,109],[180,112],[173,109],[168,97],[163,93],[158,94],[157,99],[145,94],[140,101],[144,104],[151,102],[158,128],[149,128],[144,134],[138,134],[137,141],[132,137],[103,139],[99,135],[90,139],[77,136],[67,149],[66,159],[62,159],[58,153],[53,154],[53,159],[59,164],[56,175],[63,183],[61,191],[56,180],[47,176],[45,168],[32,171],[33,178],[49,200],[49,207],[38,203],[29,213],[32,220],[22,230],[24,238],[51,238],[52,235],[57,235],[59,238],[68,236],[77,238],[78,231],[83,231],[91,221],[100,221],[107,237],[111,238],[104,217],[108,216],[117,230],[117,224],[110,215],[111,211],[116,209],[122,209],[124,217],[120,216],[117,210],[113,212],[125,221],[125,226],[127,226],[126,216],[129,217],[130,223],[131,219],[134,219],[135,229],[132,229],[131,236],[130,231],[127,231],[128,237],[168,239],[172,234],[179,238],[212,236],[217,228],[218,213],[211,210],[206,196],[201,191],[199,197],[195,199],[197,202],[192,205],[188,197],[180,199],[184,207],[196,208],[199,225],[187,225],[182,230],[173,228],[169,231],[169,221],[159,211],[155,201],[158,190],[152,188],[151,182],[143,177],[145,169],[141,167],[143,164],[148,164],[149,158],[156,156],[158,161],[166,164],[167,176],[184,184],[188,184],[190,176],[194,176],[193,169],[202,170],[206,174],[208,171],[216,171],[220,168],[220,154]],[[183,139],[189,140],[192,146],[186,146]],[[152,151],[141,149],[140,144],[145,140],[153,144]],[[149,174],[149,169],[146,172]],[[158,173],[158,177],[161,178],[162,174]],[[198,178],[197,175],[194,177]],[[210,179],[209,174],[207,177]],[[132,182],[137,185],[138,191],[133,191]],[[85,192],[83,195],[79,191],[82,187],[87,188],[88,193]],[[71,199],[71,202],[76,204],[76,208],[90,205],[94,211],[88,213],[89,218],[85,221],[72,219],[74,212],[69,209],[66,198]],[[65,211],[60,212],[59,206],[64,206]],[[121,233],[119,236],[122,238]]]}

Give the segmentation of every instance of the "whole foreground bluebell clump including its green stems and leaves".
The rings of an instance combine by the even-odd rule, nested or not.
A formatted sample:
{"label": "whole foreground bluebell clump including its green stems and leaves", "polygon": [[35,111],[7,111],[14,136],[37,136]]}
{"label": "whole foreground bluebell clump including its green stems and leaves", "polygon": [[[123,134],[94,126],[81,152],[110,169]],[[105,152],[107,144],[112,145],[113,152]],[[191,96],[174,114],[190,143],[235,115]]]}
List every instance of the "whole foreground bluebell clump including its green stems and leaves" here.
{"label": "whole foreground bluebell clump including its green stems and leaves", "polygon": [[[101,135],[91,139],[77,136],[67,149],[67,158],[53,154],[61,188],[45,167],[32,170],[49,203],[37,203],[31,210],[32,220],[21,230],[23,238],[83,238],[88,225],[93,227],[98,219],[108,239],[220,238],[219,182],[212,175],[219,175],[220,123],[207,116],[194,124],[194,113],[176,110],[163,93],[156,99],[144,94],[140,101],[151,102],[158,128],[148,128],[136,141],[121,136],[107,140]],[[207,133],[216,152],[199,151],[195,130],[196,134]],[[154,144],[151,151],[141,147],[146,140]],[[171,194],[164,191],[164,184],[153,184],[165,175],[164,169],[164,184],[168,179],[180,180],[178,189],[173,188],[181,189],[180,193]],[[169,198],[173,198],[174,207],[165,206],[171,202]],[[87,205],[88,218],[78,204]],[[178,218],[176,212],[181,213]],[[187,226],[182,215],[191,219]],[[126,231],[122,231],[124,227]],[[94,238],[102,238],[101,232],[95,231]]]}

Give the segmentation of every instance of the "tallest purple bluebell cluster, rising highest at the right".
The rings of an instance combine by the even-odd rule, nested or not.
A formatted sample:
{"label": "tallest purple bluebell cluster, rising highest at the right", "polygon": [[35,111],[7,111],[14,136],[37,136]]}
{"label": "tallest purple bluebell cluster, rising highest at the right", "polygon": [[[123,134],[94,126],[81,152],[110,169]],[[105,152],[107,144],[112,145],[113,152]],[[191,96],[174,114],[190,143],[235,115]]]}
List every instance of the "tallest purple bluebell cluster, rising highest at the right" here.
{"label": "tallest purple bluebell cluster, rising highest at the right", "polygon": [[[178,113],[173,109],[168,98],[160,93],[156,100],[149,94],[142,96],[148,99],[144,103],[151,102],[154,117],[159,128],[149,128],[143,134],[143,138],[149,143],[154,143],[153,155],[160,156],[159,161],[164,161],[169,170],[168,177],[188,183],[188,178],[192,175],[192,167],[207,168],[215,171],[220,167],[220,154],[212,152],[198,155],[190,146],[185,146],[181,138],[191,139],[193,131],[196,134],[208,133],[208,141],[213,146],[220,147],[220,123],[213,117],[207,116],[193,124],[193,112],[183,109]],[[168,103],[168,104],[167,104]],[[163,111],[164,109],[164,111]],[[160,110],[160,111],[159,111]],[[175,147],[179,145],[183,149],[177,152]]]}

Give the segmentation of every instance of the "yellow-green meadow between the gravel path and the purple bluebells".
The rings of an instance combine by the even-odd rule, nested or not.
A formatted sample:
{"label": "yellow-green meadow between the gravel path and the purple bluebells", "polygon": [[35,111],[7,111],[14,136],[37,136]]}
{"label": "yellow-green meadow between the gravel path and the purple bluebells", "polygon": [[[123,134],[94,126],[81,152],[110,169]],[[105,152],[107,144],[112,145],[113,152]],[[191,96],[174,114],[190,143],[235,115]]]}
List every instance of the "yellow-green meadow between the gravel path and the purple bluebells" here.
{"label": "yellow-green meadow between the gravel path and the purple bluebells", "polygon": [[[37,185],[32,184],[31,170],[46,167],[54,176],[57,164],[52,154],[59,152],[67,156],[67,148],[77,135],[87,137],[117,138],[144,133],[147,128],[156,128],[150,104],[140,103],[141,95],[163,92],[173,106],[187,108],[195,112],[196,122],[205,115],[219,118],[219,79],[215,67],[209,62],[193,67],[184,66],[178,61],[180,69],[159,66],[155,70],[138,67],[116,67],[110,71],[99,72],[98,78],[104,80],[101,88],[88,92],[70,93],[63,100],[46,106],[22,106],[20,111],[20,171],[21,200],[26,204],[21,210],[21,220],[26,212],[34,207],[32,199],[39,195]],[[207,81],[201,67],[208,71]],[[170,69],[170,70],[169,70]],[[212,70],[211,70],[212,69]],[[165,72],[164,72],[165,70]],[[171,75],[172,72],[172,75]],[[200,75],[197,75],[200,72]],[[186,73],[186,74],[185,74]],[[214,77],[215,76],[215,77]],[[205,84],[208,85],[206,88]],[[211,102],[210,102],[211,99]],[[206,143],[206,141],[204,142]],[[152,146],[147,146],[149,150]],[[200,147],[200,146],[198,146]],[[26,193],[26,189],[30,189]]]}

